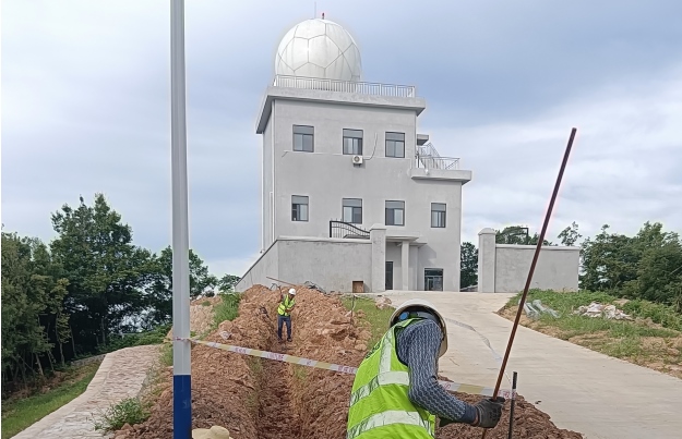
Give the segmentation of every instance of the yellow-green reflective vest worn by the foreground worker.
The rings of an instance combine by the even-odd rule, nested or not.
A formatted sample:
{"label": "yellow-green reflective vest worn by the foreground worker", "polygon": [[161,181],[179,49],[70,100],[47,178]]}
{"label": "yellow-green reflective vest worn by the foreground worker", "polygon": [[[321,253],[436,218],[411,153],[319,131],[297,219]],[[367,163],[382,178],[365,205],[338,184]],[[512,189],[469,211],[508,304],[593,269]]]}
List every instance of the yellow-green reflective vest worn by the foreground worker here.
{"label": "yellow-green reflective vest worn by the foreground worker", "polygon": [[396,324],[360,364],[352,383],[347,439],[433,438],[435,416],[416,406],[407,397],[409,373],[397,357]]}

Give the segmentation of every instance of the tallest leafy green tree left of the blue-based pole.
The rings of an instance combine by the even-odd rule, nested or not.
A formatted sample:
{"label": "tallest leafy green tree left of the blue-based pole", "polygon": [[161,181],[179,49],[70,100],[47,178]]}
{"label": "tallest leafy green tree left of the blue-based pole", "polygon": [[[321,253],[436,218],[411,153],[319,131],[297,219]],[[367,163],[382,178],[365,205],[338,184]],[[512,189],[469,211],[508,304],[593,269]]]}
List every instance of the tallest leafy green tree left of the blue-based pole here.
{"label": "tallest leafy green tree left of the blue-based pole", "polygon": [[83,197],[75,209],[64,205],[52,215],[52,225],[58,233],[52,257],[69,279],[73,336],[85,350],[104,346],[111,332],[130,328],[130,317],[144,309],[151,253],[132,244],[132,229],[103,194],[93,206]]}

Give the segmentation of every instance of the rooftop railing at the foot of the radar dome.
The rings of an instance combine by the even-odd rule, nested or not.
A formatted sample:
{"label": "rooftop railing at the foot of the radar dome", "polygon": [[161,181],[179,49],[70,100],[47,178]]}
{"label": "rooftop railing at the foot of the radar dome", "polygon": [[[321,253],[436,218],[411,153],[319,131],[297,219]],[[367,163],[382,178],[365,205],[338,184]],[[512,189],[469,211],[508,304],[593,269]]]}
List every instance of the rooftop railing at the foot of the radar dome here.
{"label": "rooftop railing at the foot of the radar dome", "polygon": [[275,75],[274,86],[306,88],[311,90],[356,93],[359,95],[391,96],[397,98],[414,98],[417,96],[417,90],[414,85],[359,83],[350,81],[322,80],[319,77]]}

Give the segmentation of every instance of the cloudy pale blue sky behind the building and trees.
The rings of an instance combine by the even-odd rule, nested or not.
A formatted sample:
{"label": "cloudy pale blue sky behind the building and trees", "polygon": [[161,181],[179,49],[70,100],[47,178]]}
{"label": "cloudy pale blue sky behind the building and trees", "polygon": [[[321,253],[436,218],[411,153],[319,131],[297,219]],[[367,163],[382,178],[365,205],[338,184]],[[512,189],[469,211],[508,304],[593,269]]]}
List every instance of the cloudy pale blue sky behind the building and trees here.
{"label": "cloudy pale blue sky behind the building and trees", "polygon": [[[216,273],[260,249],[262,94],[313,1],[186,1],[191,246]],[[538,230],[572,126],[550,240],[571,221],[682,231],[680,0],[318,1],[360,47],[366,81],[416,85],[419,132],[474,172],[463,239]],[[53,237],[50,212],[103,192],[170,242],[167,0],[2,2],[2,222]]]}

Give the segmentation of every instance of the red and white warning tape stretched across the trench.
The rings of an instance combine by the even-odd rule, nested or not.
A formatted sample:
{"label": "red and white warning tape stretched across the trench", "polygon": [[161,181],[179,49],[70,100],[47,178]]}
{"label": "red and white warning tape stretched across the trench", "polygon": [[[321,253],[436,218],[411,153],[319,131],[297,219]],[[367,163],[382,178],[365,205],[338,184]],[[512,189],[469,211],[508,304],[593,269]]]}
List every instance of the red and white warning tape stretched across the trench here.
{"label": "red and white warning tape stretched across the trench", "polygon": [[[278,354],[276,352],[260,351],[258,349],[234,346],[231,344],[216,343],[214,341],[203,341],[203,340],[198,340],[198,339],[182,339],[182,338],[176,338],[175,340],[190,341],[195,344],[203,344],[208,347],[215,347],[215,349],[219,349],[223,351],[234,352],[236,354],[259,356],[261,358],[273,359],[275,362],[298,364],[300,366],[315,367],[319,369],[339,371],[343,374],[355,375],[358,371],[357,367],[344,366],[344,365],[334,364],[334,363],[319,362],[316,359],[302,358],[300,356],[294,356],[289,354]],[[438,382],[445,390],[450,392],[456,391],[456,392],[464,392],[464,393],[470,393],[470,394],[480,394],[483,397],[492,397],[492,393],[494,392],[494,389],[483,387],[483,386],[464,385],[460,382],[451,382],[451,381],[441,381],[441,380],[439,380]],[[503,397],[505,399],[512,399],[513,397],[516,397],[516,392],[512,393],[511,390],[500,389],[500,391],[498,392],[498,395]]]}

